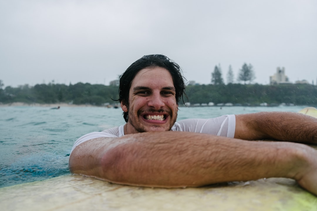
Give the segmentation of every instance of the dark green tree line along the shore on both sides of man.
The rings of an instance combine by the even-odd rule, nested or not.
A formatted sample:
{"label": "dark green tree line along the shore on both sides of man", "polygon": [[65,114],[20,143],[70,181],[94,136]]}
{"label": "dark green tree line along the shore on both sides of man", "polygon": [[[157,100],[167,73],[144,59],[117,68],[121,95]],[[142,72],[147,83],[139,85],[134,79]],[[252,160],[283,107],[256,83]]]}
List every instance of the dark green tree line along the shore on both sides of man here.
{"label": "dark green tree line along the shore on both sides of man", "polygon": [[[118,86],[102,84],[36,84],[35,86],[7,86],[0,80],[0,103],[73,103],[101,106],[118,103]],[[317,105],[317,86],[311,84],[208,84],[188,85],[185,90],[188,101],[195,103],[233,103],[256,106],[262,102],[269,105],[280,103]],[[187,101],[185,101],[187,102]],[[179,102],[181,104],[181,102]]]}

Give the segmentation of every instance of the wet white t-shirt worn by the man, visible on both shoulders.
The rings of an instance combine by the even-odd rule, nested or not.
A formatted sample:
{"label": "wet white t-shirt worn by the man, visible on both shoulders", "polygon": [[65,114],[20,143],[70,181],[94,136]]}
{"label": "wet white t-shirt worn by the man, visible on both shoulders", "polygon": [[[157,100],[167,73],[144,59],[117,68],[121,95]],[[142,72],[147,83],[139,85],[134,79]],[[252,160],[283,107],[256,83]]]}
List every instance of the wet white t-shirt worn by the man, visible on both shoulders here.
{"label": "wet white t-shirt worn by the man, visible on both shoulders", "polygon": [[[113,127],[101,132],[92,132],[81,136],[72,148],[72,151],[79,144],[101,137],[120,137],[124,135],[124,125],[119,127]],[[233,138],[236,129],[236,116],[235,115],[223,115],[212,119],[186,119],[175,122],[171,131],[187,131],[193,133],[207,133],[218,136],[226,136]]]}

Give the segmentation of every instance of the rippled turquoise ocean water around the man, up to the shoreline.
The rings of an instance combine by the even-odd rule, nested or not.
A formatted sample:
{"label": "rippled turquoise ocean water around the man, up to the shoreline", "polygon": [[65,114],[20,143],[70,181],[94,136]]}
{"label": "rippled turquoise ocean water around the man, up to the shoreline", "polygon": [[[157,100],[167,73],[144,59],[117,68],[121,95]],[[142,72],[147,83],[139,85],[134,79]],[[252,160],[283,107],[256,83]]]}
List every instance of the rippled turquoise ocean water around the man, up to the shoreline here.
{"label": "rippled turquoise ocean water around the man, up to the shoreline", "polygon": [[[178,120],[260,111],[297,112],[305,106],[180,107]],[[124,124],[121,109],[0,107],[0,187],[70,174],[70,150],[80,136]]]}

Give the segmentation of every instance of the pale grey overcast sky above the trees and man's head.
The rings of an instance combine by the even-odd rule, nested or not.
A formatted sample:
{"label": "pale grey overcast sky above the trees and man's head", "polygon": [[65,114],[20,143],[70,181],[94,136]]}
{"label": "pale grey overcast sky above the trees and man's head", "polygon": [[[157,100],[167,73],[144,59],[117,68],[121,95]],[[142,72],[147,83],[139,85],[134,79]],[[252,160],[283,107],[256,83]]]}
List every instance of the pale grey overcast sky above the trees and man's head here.
{"label": "pale grey overcast sky above the trees and man's head", "polygon": [[187,80],[226,81],[243,63],[268,84],[317,79],[316,0],[0,0],[0,80],[105,84],[146,54],[164,54]]}

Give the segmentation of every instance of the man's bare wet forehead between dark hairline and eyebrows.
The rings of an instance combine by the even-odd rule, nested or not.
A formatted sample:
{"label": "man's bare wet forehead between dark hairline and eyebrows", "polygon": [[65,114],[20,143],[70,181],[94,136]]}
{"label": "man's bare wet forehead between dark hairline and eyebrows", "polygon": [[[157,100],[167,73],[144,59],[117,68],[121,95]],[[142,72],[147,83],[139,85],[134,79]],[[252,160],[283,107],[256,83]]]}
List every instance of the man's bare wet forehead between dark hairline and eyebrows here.
{"label": "man's bare wet forehead between dark hairline and eyebrows", "polygon": [[144,68],[133,78],[131,88],[143,86],[149,88],[174,87],[171,73],[163,67]]}

